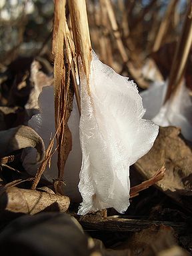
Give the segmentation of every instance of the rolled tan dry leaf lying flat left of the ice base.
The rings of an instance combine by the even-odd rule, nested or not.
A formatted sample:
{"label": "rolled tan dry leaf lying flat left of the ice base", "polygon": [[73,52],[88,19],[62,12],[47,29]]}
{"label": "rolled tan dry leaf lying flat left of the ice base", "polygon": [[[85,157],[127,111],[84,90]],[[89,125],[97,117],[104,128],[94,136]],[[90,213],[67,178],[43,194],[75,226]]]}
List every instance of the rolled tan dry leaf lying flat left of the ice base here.
{"label": "rolled tan dry leaf lying flat left of the ice base", "polygon": [[65,212],[69,207],[69,197],[56,195],[51,189],[41,191],[18,187],[1,187],[0,215],[26,213],[34,215],[41,211]]}

